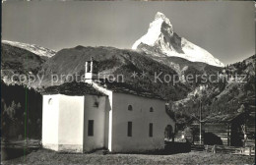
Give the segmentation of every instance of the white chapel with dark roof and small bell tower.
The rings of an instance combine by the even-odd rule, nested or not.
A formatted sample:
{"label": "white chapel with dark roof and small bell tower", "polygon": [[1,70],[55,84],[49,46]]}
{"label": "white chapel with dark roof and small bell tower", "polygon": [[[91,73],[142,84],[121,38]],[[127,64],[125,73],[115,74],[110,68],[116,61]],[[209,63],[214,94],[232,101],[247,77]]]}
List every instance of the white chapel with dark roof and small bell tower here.
{"label": "white chapel with dark roof and small bell tower", "polygon": [[85,82],[45,88],[43,147],[71,152],[162,149],[166,128],[168,134],[175,128],[164,99],[130,84],[100,81],[93,59],[85,67]]}

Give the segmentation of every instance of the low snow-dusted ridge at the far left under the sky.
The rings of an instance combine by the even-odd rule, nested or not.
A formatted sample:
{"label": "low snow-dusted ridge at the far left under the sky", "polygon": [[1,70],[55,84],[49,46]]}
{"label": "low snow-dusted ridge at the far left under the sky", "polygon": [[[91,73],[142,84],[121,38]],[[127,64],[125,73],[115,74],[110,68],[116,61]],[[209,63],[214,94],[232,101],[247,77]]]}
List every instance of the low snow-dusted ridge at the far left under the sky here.
{"label": "low snow-dusted ridge at the far left under the sky", "polygon": [[41,47],[35,44],[21,43],[17,41],[2,40],[2,43],[28,50],[38,56],[52,57],[56,54],[54,50]]}

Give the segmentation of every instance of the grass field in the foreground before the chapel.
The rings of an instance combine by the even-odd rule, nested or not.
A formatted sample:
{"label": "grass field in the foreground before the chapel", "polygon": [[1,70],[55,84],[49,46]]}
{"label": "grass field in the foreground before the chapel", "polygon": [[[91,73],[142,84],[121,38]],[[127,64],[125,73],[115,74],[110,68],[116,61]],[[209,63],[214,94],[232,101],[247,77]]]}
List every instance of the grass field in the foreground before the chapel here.
{"label": "grass field in the foreground before the chapel", "polygon": [[3,161],[2,164],[80,165],[80,164],[254,164],[254,156],[214,154],[192,151],[172,155],[149,154],[90,154],[58,153],[39,149],[26,157]]}

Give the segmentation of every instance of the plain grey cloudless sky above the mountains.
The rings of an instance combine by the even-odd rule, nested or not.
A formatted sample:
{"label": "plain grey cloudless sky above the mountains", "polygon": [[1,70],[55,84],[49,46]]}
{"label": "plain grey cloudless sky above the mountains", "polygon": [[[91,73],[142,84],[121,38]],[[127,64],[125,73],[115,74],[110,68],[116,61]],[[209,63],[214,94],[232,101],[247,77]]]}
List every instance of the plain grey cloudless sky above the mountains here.
{"label": "plain grey cloudless sky above the mountains", "polygon": [[174,31],[224,64],[255,54],[252,1],[87,1],[2,4],[2,39],[54,50],[83,46],[130,49],[157,12]]}

